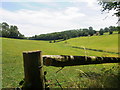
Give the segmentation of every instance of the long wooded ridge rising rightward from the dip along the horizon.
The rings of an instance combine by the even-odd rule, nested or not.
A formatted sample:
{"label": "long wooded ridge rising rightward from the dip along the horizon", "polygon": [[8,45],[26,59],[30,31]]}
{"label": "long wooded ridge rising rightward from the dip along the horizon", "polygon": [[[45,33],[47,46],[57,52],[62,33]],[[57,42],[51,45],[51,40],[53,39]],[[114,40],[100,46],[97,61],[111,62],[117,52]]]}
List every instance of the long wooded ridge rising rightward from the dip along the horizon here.
{"label": "long wooded ridge rising rightward from the dip along the horizon", "polygon": [[74,29],[74,30],[67,30],[62,32],[54,32],[48,34],[40,34],[29,37],[30,40],[66,40],[75,37],[82,37],[82,36],[93,36],[93,35],[104,35],[104,33],[108,32],[112,34],[113,31],[119,31],[120,27],[117,26],[110,26],[101,28],[99,31],[93,29],[93,27],[84,28],[84,29]]}

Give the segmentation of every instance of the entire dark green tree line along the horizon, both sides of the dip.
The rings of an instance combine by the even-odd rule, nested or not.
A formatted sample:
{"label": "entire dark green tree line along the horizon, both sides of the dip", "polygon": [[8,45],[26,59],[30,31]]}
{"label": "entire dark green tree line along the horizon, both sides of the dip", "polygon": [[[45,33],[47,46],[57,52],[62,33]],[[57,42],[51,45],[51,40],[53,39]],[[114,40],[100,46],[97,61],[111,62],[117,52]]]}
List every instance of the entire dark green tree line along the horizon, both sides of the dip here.
{"label": "entire dark green tree line along the horizon, both sides of the dip", "polygon": [[93,27],[84,28],[84,29],[73,29],[66,30],[62,32],[54,32],[48,34],[40,34],[32,37],[26,38],[23,34],[18,31],[18,27],[15,25],[8,25],[6,22],[0,23],[0,37],[6,38],[16,38],[16,39],[29,39],[29,40],[67,40],[75,37],[83,37],[83,36],[93,36],[93,35],[104,35],[104,33],[108,32],[112,34],[113,31],[119,31],[120,26],[110,26],[101,28],[99,31],[94,30]]}

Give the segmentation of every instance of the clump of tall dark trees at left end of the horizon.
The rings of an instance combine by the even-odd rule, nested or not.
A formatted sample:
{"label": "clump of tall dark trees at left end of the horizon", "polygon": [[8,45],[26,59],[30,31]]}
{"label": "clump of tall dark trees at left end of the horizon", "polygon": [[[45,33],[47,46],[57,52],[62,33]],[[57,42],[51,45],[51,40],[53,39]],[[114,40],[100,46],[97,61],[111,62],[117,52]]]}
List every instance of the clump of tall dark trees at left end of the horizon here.
{"label": "clump of tall dark trees at left end of the horizon", "polygon": [[9,25],[6,22],[0,23],[0,37],[24,39],[25,36],[18,31],[15,25]]}

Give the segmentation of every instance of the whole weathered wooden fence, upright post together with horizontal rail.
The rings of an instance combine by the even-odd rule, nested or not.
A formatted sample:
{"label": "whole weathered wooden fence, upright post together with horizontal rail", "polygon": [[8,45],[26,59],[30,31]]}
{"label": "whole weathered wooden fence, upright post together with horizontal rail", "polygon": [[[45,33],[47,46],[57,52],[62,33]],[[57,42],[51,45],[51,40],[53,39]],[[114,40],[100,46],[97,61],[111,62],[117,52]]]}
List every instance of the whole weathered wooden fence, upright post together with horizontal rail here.
{"label": "whole weathered wooden fence, upright post together with horizontal rail", "polygon": [[120,63],[119,57],[42,55],[42,51],[23,52],[25,84],[23,88],[46,88],[43,65],[65,67],[75,65]]}

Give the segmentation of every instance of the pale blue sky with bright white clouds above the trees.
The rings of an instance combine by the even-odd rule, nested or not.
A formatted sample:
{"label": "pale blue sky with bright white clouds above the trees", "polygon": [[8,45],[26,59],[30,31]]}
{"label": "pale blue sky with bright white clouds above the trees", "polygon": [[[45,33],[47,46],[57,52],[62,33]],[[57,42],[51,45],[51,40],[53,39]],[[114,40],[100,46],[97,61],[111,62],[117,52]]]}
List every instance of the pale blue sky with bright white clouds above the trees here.
{"label": "pale blue sky with bright white clouds above the trees", "polygon": [[26,37],[118,26],[114,11],[102,13],[97,0],[2,0],[0,5],[0,23],[16,25]]}

